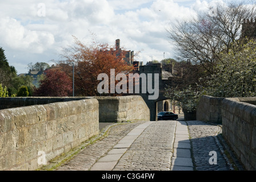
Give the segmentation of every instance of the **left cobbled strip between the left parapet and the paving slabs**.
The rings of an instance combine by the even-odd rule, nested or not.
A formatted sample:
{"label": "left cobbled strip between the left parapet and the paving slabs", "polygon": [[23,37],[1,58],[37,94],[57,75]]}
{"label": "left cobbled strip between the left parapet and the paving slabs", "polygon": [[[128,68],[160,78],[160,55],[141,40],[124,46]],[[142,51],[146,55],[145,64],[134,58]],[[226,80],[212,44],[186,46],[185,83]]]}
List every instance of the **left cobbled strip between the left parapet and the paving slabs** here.
{"label": "left cobbled strip between the left parapet and the paving slabs", "polygon": [[112,126],[107,137],[91,144],[79,152],[69,162],[58,167],[59,171],[88,171],[91,166],[103,155],[107,153],[117,142],[123,138],[134,127],[141,125],[143,121],[125,123]]}

